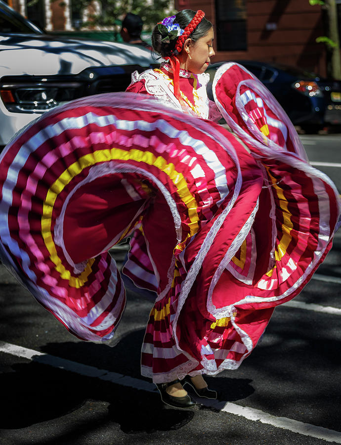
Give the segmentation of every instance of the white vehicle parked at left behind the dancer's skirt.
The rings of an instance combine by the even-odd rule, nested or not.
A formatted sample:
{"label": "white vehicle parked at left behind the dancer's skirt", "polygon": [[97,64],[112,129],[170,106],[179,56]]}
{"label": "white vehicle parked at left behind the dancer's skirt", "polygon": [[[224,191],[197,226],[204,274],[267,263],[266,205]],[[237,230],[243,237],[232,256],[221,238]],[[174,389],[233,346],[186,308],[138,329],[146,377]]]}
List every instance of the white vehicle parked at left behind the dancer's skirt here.
{"label": "white vehicle parked at left behind the dancer's skirt", "polygon": [[0,149],[43,112],[78,97],[124,91],[149,50],[118,42],[55,38],[0,0]]}

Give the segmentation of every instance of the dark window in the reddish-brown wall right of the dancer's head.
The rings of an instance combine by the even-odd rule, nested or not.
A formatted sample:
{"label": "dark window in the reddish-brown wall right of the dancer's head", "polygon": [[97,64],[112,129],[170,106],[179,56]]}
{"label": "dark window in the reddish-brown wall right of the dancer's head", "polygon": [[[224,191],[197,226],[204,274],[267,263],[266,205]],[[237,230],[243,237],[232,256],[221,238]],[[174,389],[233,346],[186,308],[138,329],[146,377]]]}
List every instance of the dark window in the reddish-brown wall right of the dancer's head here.
{"label": "dark window in the reddish-brown wall right of the dancer's head", "polygon": [[246,50],[246,0],[215,0],[216,40],[218,51]]}

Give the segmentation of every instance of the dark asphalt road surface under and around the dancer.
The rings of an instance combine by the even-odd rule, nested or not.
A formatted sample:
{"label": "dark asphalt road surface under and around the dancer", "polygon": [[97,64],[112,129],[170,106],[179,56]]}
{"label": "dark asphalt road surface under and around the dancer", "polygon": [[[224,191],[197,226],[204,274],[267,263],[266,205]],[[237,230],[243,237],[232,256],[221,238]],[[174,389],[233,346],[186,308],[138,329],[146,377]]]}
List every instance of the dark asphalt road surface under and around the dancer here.
{"label": "dark asphalt road surface under and around the dancer", "polygon": [[[341,135],[302,141],[340,191]],[[125,251],[112,254],[121,262]],[[0,444],[340,444],[340,285],[341,231],[253,354],[207,378],[218,401],[179,411],[139,372],[153,294],[126,280],[127,309],[110,345],[82,342],[0,266]]]}

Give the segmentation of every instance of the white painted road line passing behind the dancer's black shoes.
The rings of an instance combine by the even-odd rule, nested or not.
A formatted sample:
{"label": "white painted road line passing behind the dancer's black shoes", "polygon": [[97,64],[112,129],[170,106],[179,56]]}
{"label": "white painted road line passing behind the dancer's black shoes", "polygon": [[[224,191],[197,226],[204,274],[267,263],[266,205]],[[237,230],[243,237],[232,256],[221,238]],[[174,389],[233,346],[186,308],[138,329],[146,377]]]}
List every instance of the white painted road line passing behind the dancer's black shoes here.
{"label": "white painted road line passing behind the dancer's black shoes", "polygon": [[[32,349],[23,348],[21,346],[12,345],[6,342],[0,342],[0,352],[11,354],[13,356],[21,358],[34,359],[35,362],[47,364],[55,368],[64,369],[66,371],[76,372],[77,374],[85,375],[87,377],[99,378],[101,380],[106,380],[117,385],[128,386],[137,390],[148,392],[157,391],[153,383],[149,383],[144,380],[128,377],[117,372],[109,372],[105,369],[98,369],[94,366],[84,365],[82,363],[77,363],[76,361],[67,360],[65,358],[50,356],[49,354],[44,354],[39,351],[34,351]],[[202,399],[198,398],[193,399],[204,406],[213,407],[220,411],[242,416],[248,420],[259,420],[262,423],[272,425],[276,428],[282,428],[288,431],[292,431],[293,433],[322,439],[326,442],[335,442],[337,444],[341,444],[341,432],[339,431],[329,430],[328,428],[298,422],[297,420],[289,419],[287,417],[273,416],[259,409],[240,406],[237,403],[210,400],[203,401]]]}

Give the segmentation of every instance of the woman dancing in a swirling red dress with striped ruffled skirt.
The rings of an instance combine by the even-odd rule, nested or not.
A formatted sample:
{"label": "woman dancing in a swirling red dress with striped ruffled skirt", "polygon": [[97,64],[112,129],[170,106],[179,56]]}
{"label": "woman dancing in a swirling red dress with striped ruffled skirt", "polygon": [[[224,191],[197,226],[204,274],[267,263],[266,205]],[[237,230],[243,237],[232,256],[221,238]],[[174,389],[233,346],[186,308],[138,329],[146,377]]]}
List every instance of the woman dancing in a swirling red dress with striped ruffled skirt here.
{"label": "woman dancing in a swirling red dress with striped ruffled skirt", "polygon": [[166,17],[159,69],[45,113],[0,157],[0,259],[78,338],[113,337],[126,295],[108,250],[131,237],[123,272],[156,293],[141,372],[180,409],[185,384],[216,398],[203,375],[251,354],[340,224],[335,185],[250,72],[222,65],[208,99],[213,37],[203,11]]}

